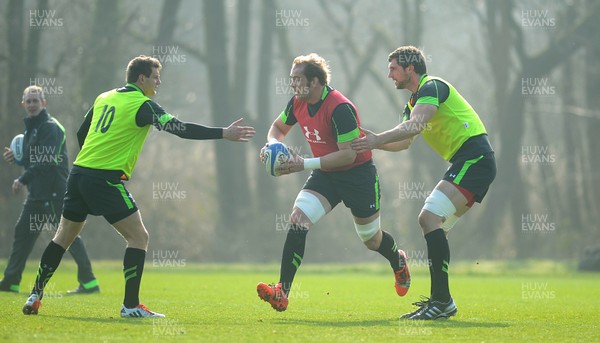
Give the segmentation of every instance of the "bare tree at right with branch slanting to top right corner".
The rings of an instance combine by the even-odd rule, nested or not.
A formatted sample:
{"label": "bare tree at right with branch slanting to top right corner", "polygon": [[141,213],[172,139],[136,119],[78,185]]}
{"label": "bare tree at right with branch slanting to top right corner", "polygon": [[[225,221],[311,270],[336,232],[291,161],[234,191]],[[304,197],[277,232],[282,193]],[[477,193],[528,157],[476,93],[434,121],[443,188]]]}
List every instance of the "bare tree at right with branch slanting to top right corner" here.
{"label": "bare tree at right with branch slanting to top right corner", "polygon": [[[498,176],[492,186],[493,196],[489,198],[486,220],[482,223],[482,235],[495,235],[495,228],[501,226],[504,216],[509,216],[510,226],[518,234],[521,230],[521,214],[528,213],[529,203],[523,175],[518,166],[525,130],[524,97],[522,78],[539,78],[548,75],[581,45],[573,47],[569,42],[591,30],[600,6],[596,3],[590,10],[575,20],[565,21],[559,34],[550,36],[545,49],[531,55],[526,51],[523,27],[515,21],[514,2],[486,2],[486,13],[481,17],[486,29],[487,51],[492,69],[497,109],[501,154],[498,154]],[[502,134],[508,133],[511,134]],[[519,243],[519,242],[517,242]],[[477,243],[479,244],[479,243]],[[488,250],[490,251],[490,250]],[[531,247],[517,244],[517,256],[527,257]]]}

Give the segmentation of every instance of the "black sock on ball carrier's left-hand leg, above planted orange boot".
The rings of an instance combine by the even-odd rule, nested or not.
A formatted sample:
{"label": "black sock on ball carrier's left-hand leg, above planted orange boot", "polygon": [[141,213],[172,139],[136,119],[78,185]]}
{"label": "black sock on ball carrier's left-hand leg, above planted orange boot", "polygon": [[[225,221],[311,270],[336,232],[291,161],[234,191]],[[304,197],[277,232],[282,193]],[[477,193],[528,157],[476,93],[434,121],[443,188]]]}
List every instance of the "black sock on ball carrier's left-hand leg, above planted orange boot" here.
{"label": "black sock on ball carrier's left-hand leg, above planted orange boot", "polygon": [[307,233],[308,229],[303,226],[296,224],[289,226],[288,235],[283,245],[281,271],[279,274],[279,282],[281,282],[285,294],[290,292],[296,271],[302,263]]}

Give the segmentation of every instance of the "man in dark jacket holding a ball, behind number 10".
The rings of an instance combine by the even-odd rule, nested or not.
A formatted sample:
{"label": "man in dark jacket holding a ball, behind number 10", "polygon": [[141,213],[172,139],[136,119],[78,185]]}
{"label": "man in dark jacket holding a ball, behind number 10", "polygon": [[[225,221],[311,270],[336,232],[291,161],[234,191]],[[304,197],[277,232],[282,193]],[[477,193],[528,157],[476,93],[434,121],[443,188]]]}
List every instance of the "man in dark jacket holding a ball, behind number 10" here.
{"label": "man in dark jacket holding a ball, behind number 10", "polygon": [[[25,170],[13,181],[12,190],[17,194],[27,186],[28,195],[15,226],[15,240],[4,279],[0,281],[0,291],[15,293],[19,292],[25,262],[36,239],[42,231],[54,232],[58,228],[69,173],[65,129],[46,111],[43,89],[27,87],[22,105],[27,117],[20,164]],[[8,163],[15,163],[9,148],[4,148],[3,157]],[[67,293],[99,292],[81,237],[75,239],[69,251],[77,263],[79,287]]]}

